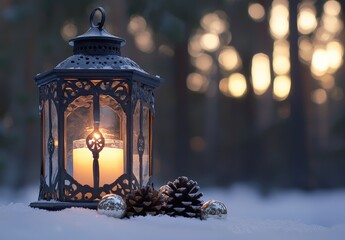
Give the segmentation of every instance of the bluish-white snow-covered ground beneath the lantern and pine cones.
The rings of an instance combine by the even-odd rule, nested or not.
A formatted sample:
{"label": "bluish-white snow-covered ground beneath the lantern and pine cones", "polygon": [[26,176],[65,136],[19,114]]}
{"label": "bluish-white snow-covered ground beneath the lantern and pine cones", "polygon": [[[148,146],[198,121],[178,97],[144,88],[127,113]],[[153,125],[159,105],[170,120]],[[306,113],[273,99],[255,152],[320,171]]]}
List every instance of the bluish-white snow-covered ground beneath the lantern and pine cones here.
{"label": "bluish-white snow-covered ground beneath the lantern and pine cones", "polygon": [[345,190],[275,192],[204,189],[203,200],[228,208],[225,220],[168,216],[115,219],[87,209],[59,212],[31,209],[38,188],[14,194],[0,189],[0,239],[345,239]]}

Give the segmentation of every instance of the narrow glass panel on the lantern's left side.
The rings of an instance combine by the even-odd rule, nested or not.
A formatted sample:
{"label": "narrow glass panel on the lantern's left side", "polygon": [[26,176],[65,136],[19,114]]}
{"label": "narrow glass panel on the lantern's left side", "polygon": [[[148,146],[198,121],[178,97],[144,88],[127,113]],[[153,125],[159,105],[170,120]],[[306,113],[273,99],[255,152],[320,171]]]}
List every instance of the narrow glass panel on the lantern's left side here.
{"label": "narrow glass panel on the lantern's left side", "polygon": [[51,100],[44,101],[43,124],[43,176],[47,186],[50,186],[55,182],[58,173],[57,110]]}

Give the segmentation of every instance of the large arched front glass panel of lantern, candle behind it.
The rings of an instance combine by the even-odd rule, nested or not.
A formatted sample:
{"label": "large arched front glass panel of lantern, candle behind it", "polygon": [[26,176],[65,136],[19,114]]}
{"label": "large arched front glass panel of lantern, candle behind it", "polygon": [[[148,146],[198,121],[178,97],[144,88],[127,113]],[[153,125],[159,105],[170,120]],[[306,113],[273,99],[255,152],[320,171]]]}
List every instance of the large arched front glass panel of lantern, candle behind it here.
{"label": "large arched front glass panel of lantern, candle behind it", "polygon": [[[81,96],[67,108],[66,169],[80,184],[94,187],[93,154],[86,138],[94,130],[94,98]],[[126,118],[121,105],[112,97],[99,96],[99,131],[105,146],[99,153],[99,185],[111,184],[124,173]]]}

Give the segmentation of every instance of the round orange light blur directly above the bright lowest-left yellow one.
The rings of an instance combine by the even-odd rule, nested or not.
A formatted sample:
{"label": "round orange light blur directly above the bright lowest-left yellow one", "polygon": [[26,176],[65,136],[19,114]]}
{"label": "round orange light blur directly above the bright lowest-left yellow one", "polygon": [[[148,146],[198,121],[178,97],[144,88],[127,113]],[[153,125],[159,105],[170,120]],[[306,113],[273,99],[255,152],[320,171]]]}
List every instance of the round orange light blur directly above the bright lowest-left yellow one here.
{"label": "round orange light blur directly above the bright lowest-left yellow one", "polygon": [[224,48],[218,56],[218,61],[220,66],[228,71],[236,70],[241,66],[240,55],[234,47]]}

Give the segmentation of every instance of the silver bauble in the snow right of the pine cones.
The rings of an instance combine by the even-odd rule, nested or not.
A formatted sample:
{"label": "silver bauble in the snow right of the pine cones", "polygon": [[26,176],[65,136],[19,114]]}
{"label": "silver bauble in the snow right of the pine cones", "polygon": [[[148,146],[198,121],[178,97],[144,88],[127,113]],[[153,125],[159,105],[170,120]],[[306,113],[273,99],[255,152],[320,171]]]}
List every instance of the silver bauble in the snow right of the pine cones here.
{"label": "silver bauble in the snow right of the pine cones", "polygon": [[217,200],[210,200],[205,202],[201,206],[201,218],[218,218],[225,219],[227,217],[228,210],[226,209],[224,203]]}

